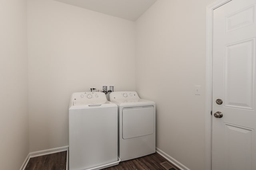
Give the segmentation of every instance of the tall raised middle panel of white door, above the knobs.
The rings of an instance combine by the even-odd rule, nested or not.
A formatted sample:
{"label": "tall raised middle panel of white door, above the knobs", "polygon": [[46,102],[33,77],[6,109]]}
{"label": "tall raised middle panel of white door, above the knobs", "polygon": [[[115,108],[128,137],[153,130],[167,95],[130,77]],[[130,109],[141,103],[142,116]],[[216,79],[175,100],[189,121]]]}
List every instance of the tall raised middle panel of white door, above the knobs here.
{"label": "tall raised middle panel of white door, above the knobs", "polygon": [[226,45],[226,107],[254,108],[255,38]]}

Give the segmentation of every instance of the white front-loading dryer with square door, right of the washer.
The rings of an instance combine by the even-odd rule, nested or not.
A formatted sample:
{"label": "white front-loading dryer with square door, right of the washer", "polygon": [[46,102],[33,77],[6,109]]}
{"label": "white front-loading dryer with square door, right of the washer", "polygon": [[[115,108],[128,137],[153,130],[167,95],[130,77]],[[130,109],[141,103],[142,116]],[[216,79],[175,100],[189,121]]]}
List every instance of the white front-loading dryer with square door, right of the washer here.
{"label": "white front-loading dryer with square door, right of the washer", "polygon": [[156,104],[136,92],[112,92],[118,106],[118,156],[121,161],[156,152]]}

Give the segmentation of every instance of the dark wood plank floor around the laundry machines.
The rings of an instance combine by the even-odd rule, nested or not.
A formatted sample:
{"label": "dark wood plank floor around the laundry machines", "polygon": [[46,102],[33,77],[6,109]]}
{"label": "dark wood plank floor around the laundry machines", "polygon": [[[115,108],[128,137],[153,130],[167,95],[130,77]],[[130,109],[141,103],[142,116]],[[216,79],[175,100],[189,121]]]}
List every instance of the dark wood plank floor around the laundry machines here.
{"label": "dark wood plank floor around the laundry machines", "polygon": [[[66,170],[67,152],[58,152],[44,156],[30,158],[25,170]],[[154,153],[140,158],[120,162],[116,166],[105,168],[104,170],[179,170],[172,165],[164,168],[162,162],[168,162],[160,154]]]}

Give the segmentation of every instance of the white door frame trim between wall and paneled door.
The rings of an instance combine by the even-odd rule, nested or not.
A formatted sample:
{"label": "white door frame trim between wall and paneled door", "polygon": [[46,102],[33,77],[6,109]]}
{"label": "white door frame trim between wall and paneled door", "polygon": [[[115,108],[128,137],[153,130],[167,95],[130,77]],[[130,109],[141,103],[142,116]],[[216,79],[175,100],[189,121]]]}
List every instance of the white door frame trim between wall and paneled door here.
{"label": "white door frame trim between wall and paneled door", "polygon": [[213,10],[230,2],[218,0],[206,7],[206,103],[205,103],[205,170],[212,169],[212,41],[213,41]]}

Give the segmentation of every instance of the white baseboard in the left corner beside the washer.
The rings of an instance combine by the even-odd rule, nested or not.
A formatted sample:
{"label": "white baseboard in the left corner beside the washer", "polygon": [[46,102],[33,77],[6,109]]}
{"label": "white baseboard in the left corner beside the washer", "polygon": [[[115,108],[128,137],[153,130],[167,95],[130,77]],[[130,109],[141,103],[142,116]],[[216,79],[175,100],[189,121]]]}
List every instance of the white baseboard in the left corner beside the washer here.
{"label": "white baseboard in the left corner beside the washer", "polygon": [[37,157],[37,156],[43,156],[43,155],[47,155],[47,154],[53,154],[53,153],[57,153],[57,152],[63,152],[63,151],[67,151],[66,170],[68,170],[68,146],[46,149],[46,150],[39,150],[39,151],[36,151],[36,152],[30,152],[28,154],[28,156],[26,157],[26,159],[24,160],[22,166],[20,167],[20,170],[24,170],[26,168],[30,158],[34,158],[34,157]]}

